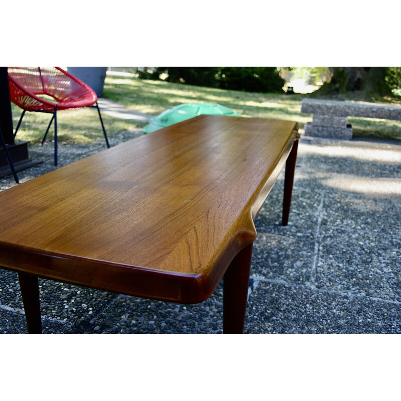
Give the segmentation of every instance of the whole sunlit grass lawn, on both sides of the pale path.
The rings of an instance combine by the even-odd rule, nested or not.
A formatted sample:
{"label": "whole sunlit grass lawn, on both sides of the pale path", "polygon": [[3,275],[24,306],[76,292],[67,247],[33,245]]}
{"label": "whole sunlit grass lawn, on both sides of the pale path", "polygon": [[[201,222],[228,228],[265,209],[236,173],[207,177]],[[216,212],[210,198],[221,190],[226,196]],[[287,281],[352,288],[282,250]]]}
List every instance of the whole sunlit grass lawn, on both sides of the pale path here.
{"label": "whole sunlit grass lawn, on both sides of the pale path", "polygon": [[[292,120],[304,128],[312,120],[311,114],[301,113],[301,100],[307,95],[285,93],[249,93],[224,89],[205,88],[175,84],[165,81],[148,81],[136,76],[119,76],[108,73],[103,97],[123,104],[126,108],[158,115],[162,111],[181,103],[208,102],[229,107],[244,117]],[[358,100],[358,99],[353,99]],[[381,99],[383,103],[388,99]],[[394,100],[391,100],[394,102]],[[400,104],[400,101],[395,101]],[[17,126],[22,110],[12,104],[13,123]],[[102,113],[109,137],[122,131],[141,128],[145,124],[120,120]],[[27,112],[17,135],[18,140],[32,143],[41,141],[51,115]],[[103,132],[95,108],[65,110],[57,113],[60,141],[90,143],[103,141]],[[354,137],[401,140],[401,121],[349,118]],[[54,134],[52,126],[48,140]]]}

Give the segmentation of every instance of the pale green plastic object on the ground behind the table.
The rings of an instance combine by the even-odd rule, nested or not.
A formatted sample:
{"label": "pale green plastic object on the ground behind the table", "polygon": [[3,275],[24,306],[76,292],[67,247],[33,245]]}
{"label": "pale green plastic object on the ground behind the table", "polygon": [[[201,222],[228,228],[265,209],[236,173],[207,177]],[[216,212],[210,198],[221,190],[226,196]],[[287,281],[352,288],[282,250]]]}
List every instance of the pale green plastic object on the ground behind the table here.
{"label": "pale green plastic object on the ground behind the table", "polygon": [[168,125],[175,124],[196,117],[200,114],[220,114],[225,116],[240,116],[241,114],[229,109],[226,106],[213,103],[184,103],[167,109],[157,117],[151,118],[148,125],[143,127],[143,133],[156,131]]}

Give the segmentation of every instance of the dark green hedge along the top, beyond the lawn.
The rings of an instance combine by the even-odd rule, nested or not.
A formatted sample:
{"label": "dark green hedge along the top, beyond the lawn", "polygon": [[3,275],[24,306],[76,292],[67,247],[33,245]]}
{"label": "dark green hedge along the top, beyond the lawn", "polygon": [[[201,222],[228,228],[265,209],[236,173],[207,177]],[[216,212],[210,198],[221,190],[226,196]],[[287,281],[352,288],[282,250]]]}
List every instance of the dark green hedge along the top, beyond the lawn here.
{"label": "dark green hedge along the top, beyond the lawn", "polygon": [[276,67],[157,67],[150,75],[162,73],[168,82],[259,93],[281,92],[285,83]]}

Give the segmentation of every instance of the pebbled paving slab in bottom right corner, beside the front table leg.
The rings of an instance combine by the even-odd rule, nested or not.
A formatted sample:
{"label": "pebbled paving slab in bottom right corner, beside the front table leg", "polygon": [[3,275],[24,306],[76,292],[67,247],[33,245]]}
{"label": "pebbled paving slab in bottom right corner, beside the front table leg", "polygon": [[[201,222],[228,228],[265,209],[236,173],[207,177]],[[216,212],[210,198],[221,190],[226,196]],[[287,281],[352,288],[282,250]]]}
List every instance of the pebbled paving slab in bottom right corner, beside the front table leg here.
{"label": "pebbled paving slab in bottom right corner, beside the front table leg", "polygon": [[399,333],[401,304],[346,292],[261,280],[250,297],[245,332]]}

